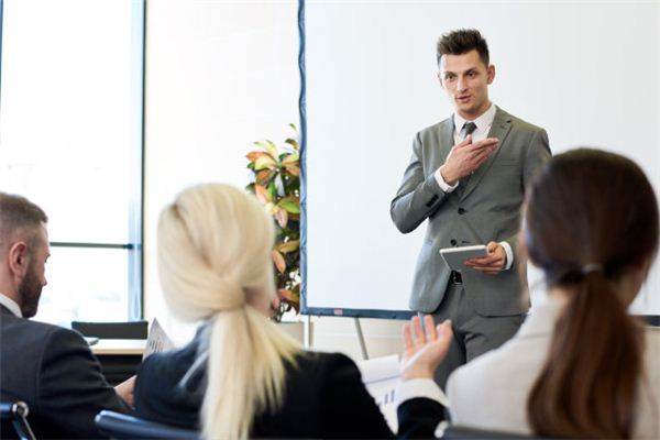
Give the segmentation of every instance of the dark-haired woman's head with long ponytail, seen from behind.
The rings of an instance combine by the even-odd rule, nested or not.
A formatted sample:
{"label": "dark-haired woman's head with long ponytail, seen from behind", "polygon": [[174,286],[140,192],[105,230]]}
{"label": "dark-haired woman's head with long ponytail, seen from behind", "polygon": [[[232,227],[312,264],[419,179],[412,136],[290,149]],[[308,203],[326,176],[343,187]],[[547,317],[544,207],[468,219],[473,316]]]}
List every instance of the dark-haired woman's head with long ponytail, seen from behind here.
{"label": "dark-haired woman's head with long ponytail, seen from behind", "polygon": [[539,173],[524,218],[529,261],[566,302],[529,421],[544,436],[629,437],[642,342],[627,307],[658,249],[653,189],[632,161],[574,150]]}

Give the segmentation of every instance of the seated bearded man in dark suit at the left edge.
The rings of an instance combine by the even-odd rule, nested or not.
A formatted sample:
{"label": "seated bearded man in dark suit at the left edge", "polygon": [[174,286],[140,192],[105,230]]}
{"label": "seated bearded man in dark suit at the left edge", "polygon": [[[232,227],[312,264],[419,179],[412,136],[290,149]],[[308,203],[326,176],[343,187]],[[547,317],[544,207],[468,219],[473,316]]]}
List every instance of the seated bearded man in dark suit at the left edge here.
{"label": "seated bearded man in dark suit at the left edge", "polygon": [[[46,285],[46,215],[0,193],[0,400],[23,400],[36,438],[97,438],[101,409],[129,413],[133,381],[112,388],[76,331],[30,321]],[[2,438],[13,431],[6,420]]]}

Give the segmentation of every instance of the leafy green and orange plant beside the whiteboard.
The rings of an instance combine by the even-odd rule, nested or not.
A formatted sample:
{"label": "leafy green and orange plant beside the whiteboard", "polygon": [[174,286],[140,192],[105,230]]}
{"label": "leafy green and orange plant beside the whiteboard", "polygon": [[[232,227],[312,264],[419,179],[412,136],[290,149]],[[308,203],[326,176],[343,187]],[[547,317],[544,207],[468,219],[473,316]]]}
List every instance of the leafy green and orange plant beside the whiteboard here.
{"label": "leafy green and orange plant beside the whiteboard", "polygon": [[253,182],[245,187],[265,205],[275,222],[273,264],[279,301],[274,319],[300,310],[300,155],[295,136],[277,146],[272,141],[255,142],[257,151],[248,153]]}

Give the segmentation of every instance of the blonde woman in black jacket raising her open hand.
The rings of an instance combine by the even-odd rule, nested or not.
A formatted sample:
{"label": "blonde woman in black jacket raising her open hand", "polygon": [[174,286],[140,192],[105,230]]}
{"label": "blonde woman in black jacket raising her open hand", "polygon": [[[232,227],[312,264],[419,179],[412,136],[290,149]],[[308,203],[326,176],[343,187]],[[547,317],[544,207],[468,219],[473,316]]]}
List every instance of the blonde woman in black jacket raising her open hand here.
{"label": "blonde woman in black jacket raising her open hand", "polygon": [[[273,242],[264,208],[228,185],[189,188],[163,210],[166,301],[202,324],[188,345],[145,360],[136,415],[208,439],[393,437],[349,358],[305,352],[266,317],[275,295]],[[426,333],[419,319],[405,330],[398,415],[399,433],[409,437],[432,437],[443,417],[432,375],[451,326],[433,328],[427,318]]]}

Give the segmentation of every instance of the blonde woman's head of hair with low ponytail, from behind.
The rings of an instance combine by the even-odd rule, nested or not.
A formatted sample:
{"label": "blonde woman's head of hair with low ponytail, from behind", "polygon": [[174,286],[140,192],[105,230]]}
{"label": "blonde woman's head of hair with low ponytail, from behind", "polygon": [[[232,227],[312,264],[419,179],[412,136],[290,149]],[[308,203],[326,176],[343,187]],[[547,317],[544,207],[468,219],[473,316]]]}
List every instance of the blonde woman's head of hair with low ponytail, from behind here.
{"label": "blonde woman's head of hair with low ponytail, from behind", "polygon": [[252,419],[283,398],[298,345],[264,316],[274,297],[273,220],[251,195],[205,184],[180,193],[158,223],[165,299],[187,320],[208,320],[201,425],[208,438],[245,438]]}

